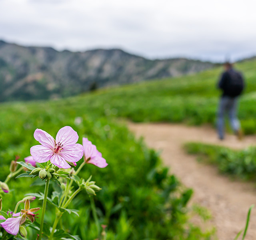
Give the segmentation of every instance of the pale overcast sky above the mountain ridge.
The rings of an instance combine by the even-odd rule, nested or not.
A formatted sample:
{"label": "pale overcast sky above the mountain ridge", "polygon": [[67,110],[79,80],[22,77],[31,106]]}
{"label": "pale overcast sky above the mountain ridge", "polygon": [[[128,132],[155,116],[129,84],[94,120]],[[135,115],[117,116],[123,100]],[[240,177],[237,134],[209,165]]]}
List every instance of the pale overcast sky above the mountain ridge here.
{"label": "pale overcast sky above the mountain ridge", "polygon": [[0,39],[148,58],[256,55],[255,0],[0,0]]}

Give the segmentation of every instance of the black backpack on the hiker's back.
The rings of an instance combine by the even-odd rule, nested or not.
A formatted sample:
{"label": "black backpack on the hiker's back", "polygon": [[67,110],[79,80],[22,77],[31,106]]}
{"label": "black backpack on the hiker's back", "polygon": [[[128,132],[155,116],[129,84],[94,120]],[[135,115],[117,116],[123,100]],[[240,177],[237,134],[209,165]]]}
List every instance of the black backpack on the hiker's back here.
{"label": "black backpack on the hiker's back", "polygon": [[230,97],[237,97],[241,95],[244,90],[244,78],[242,77],[242,74],[233,69],[227,71],[226,74],[226,94]]}

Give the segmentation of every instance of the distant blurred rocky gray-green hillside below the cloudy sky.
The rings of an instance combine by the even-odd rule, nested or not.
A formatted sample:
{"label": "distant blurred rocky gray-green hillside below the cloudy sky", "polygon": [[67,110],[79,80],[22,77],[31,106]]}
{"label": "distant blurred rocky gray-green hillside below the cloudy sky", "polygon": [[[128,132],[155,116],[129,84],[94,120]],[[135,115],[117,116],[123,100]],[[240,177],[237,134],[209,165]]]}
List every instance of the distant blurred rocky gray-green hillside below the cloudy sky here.
{"label": "distant blurred rocky gray-green hillside below the cloudy sky", "polygon": [[212,67],[211,62],[186,58],[149,60],[120,49],[58,52],[0,40],[0,101],[65,97]]}

